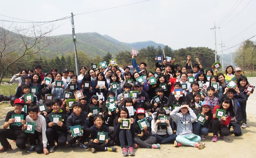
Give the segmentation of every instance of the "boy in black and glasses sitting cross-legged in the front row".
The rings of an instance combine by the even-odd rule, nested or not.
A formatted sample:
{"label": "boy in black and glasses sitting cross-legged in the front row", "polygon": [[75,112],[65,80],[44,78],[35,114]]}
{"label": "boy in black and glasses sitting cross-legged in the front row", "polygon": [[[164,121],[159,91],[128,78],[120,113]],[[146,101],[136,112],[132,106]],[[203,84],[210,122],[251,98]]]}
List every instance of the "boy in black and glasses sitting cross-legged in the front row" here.
{"label": "boy in black and glasses sitting cross-legged in the front row", "polygon": [[96,115],[93,118],[94,125],[90,127],[91,135],[89,137],[88,146],[91,148],[91,152],[98,151],[117,151],[114,145],[114,140],[110,140],[110,136],[108,135],[105,143],[100,143],[97,139],[98,132],[108,132],[107,126],[103,125],[104,119],[102,115]]}

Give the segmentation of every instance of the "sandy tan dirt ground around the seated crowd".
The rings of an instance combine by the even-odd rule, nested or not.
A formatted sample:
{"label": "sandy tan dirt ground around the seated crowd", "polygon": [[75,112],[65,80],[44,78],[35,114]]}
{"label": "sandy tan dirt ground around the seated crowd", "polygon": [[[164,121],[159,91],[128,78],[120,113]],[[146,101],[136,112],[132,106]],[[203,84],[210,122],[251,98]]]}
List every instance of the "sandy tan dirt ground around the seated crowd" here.
{"label": "sandy tan dirt ground around the seated crowd", "polygon": [[[248,77],[249,83],[251,85],[256,85],[256,77]],[[161,145],[161,149],[135,149],[135,157],[140,158],[159,158],[159,157],[227,157],[227,158],[242,158],[242,157],[256,157],[255,151],[256,146],[256,108],[254,107],[256,103],[256,92],[251,94],[247,101],[247,128],[242,129],[242,136],[236,137],[234,134],[231,134],[225,138],[225,140],[218,140],[216,143],[211,142],[212,133],[209,136],[206,136],[206,139],[203,141],[206,144],[206,147],[202,150],[199,150],[195,147],[173,147],[173,144]],[[2,108],[5,106],[4,108]],[[13,107],[6,107],[6,105],[0,105],[0,123],[3,124],[4,117],[9,110],[12,110]],[[1,126],[2,128],[2,126]],[[232,132],[232,130],[231,130]],[[26,150],[17,149],[13,141],[9,141],[13,150],[4,152],[0,154],[0,158],[12,158],[12,157],[45,157],[44,154],[37,154],[33,152],[31,154],[27,153]],[[29,144],[29,143],[27,143]],[[27,145],[27,149],[29,145]],[[83,150],[79,147],[72,149],[70,145],[66,145],[62,149],[57,149],[54,153],[50,153],[47,157],[56,158],[56,157],[94,157],[94,158],[104,158],[105,156],[111,156],[112,158],[119,158],[121,156],[121,148],[117,146],[117,152],[95,152],[91,153],[88,149]]]}

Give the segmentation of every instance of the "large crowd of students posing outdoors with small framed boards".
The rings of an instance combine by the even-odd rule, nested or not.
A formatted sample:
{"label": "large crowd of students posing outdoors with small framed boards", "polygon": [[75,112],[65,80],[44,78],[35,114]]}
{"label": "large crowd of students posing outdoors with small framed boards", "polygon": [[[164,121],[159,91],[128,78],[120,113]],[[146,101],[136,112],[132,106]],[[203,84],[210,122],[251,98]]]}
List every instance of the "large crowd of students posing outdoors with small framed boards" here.
{"label": "large crowd of students posing outdoors with small framed boards", "polygon": [[[241,68],[234,70],[228,66],[225,74],[218,73],[217,69],[214,73],[211,69],[204,71],[199,59],[193,66],[189,55],[187,59],[184,67],[175,64],[175,59],[169,62],[163,59],[161,63],[156,62],[155,72],[147,72],[147,64],[142,62],[138,66],[132,55],[133,74],[128,66],[121,68],[116,63],[109,63],[106,68],[90,68],[88,72],[81,66],[79,76],[67,69],[60,73],[56,68],[44,74],[40,65],[34,71],[23,69],[11,79],[18,86],[14,110],[8,112],[3,129],[0,129],[0,152],[12,149],[7,139],[24,149],[29,138],[31,147],[27,152],[48,154],[68,142],[71,147],[76,144],[83,149],[89,147],[91,152],[116,151],[114,145],[120,145],[123,156],[133,156],[134,148],[159,149],[164,143],[203,149],[205,143],[201,140],[209,132],[213,132],[212,141],[216,142],[218,132],[219,139],[224,139],[231,127],[233,134],[240,136],[241,127],[247,127],[246,102],[250,96],[246,89],[249,83]],[[45,77],[50,78],[51,83],[46,84]],[[188,81],[188,77],[194,77],[194,81]],[[57,81],[63,84],[56,86]],[[99,85],[99,81],[105,84]],[[228,88],[228,81],[235,81],[237,86]],[[88,87],[85,83],[89,83]],[[213,87],[213,83],[219,86]],[[84,96],[77,98],[72,106],[68,106],[66,100],[75,98],[74,95],[68,98],[64,95],[74,91],[70,84],[75,84],[75,91],[81,90]],[[33,98],[26,99],[30,88],[35,86],[38,90]],[[177,91],[182,92],[177,94]],[[115,110],[109,108],[109,103],[113,102]],[[43,111],[39,110],[41,104],[47,107]],[[27,113],[23,110],[25,105]],[[100,109],[97,114],[91,110],[95,107]],[[223,116],[219,116],[219,111],[224,112]],[[23,115],[19,125],[13,125],[17,121],[13,118],[15,114]],[[62,115],[61,120],[53,122],[51,116],[58,114]],[[129,120],[128,128],[123,128],[124,120]],[[146,123],[140,124],[142,120]],[[34,133],[24,132],[28,126],[26,122],[36,123]],[[82,129],[77,137],[73,137],[71,131],[75,125],[81,125]],[[104,142],[97,139],[98,132],[108,133]]]}

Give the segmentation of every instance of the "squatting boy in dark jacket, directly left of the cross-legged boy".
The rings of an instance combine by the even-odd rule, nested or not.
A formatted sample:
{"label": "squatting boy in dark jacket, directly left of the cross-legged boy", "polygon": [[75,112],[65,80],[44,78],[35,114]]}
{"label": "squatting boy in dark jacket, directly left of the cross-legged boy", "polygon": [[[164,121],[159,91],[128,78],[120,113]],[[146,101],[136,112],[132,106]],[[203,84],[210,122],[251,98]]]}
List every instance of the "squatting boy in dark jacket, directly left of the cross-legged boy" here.
{"label": "squatting boy in dark jacket, directly left of the cross-legged boy", "polygon": [[[73,112],[67,119],[67,129],[68,129],[68,136],[67,140],[68,143],[71,145],[71,147],[75,147],[75,141],[79,138],[81,138],[78,142],[79,147],[83,149],[87,149],[88,147],[84,145],[85,140],[89,138],[90,136],[90,129],[88,128],[88,116],[85,111],[82,111],[81,104],[73,103],[72,104],[72,110]],[[75,125],[81,125],[81,128],[83,130],[83,136],[81,137],[72,137],[70,127]]]}

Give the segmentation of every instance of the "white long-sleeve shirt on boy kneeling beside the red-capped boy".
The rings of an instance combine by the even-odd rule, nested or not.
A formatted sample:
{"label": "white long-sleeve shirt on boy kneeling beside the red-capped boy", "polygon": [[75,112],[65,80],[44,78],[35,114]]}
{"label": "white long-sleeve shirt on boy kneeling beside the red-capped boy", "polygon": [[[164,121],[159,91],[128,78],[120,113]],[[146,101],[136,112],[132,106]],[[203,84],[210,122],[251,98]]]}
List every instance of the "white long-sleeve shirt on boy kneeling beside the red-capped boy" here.
{"label": "white long-sleeve shirt on boy kneeling beside the red-capped boy", "polygon": [[28,116],[26,116],[26,121],[36,123],[35,130],[42,133],[43,147],[46,147],[47,146],[47,137],[45,134],[45,131],[46,131],[45,118],[42,115],[38,115],[38,119],[34,120],[34,119],[30,118],[30,116],[28,115]]}

